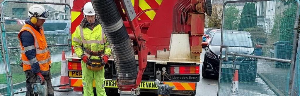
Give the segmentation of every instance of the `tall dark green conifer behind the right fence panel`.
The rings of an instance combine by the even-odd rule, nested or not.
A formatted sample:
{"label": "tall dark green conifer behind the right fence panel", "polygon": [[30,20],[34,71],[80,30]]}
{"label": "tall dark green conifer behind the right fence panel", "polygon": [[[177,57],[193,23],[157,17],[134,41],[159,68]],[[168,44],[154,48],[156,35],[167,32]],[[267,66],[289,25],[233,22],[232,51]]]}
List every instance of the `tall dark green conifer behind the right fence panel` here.
{"label": "tall dark green conifer behind the right fence panel", "polygon": [[245,3],[241,13],[239,31],[244,31],[247,28],[255,28],[257,26],[257,15],[254,3]]}

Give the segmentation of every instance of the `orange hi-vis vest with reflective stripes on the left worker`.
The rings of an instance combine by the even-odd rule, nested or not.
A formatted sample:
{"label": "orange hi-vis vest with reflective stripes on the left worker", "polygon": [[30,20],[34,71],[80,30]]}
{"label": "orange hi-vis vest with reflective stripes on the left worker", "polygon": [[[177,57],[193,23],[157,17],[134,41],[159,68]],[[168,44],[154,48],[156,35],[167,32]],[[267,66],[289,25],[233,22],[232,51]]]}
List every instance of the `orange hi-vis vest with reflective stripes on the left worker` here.
{"label": "orange hi-vis vest with reflective stripes on the left worker", "polygon": [[[29,31],[34,40],[35,40],[35,44],[32,46],[28,46],[28,47],[24,47],[21,43],[21,39],[20,39],[20,33],[22,31]],[[48,71],[49,70],[49,66],[51,64],[51,58],[50,58],[50,53],[48,51],[48,47],[47,47],[47,42],[46,42],[46,38],[44,35],[44,31],[43,28],[40,29],[39,33],[38,31],[36,31],[31,25],[26,24],[23,26],[23,28],[21,29],[21,31],[18,34],[18,39],[20,41],[20,48],[21,48],[21,57],[22,57],[22,61],[23,61],[23,71],[26,70],[31,70],[30,65],[33,63],[38,62],[40,65],[40,70],[41,71]],[[36,49],[36,55],[35,58],[28,60],[25,52],[32,50],[32,49]]]}

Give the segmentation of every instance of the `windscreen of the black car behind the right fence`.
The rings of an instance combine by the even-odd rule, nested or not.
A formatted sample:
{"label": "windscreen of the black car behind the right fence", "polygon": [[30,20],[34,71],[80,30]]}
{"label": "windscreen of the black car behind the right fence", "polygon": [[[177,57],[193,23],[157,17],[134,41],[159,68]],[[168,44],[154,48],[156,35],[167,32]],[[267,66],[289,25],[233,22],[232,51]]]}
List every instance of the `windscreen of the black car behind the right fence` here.
{"label": "windscreen of the black car behind the right fence", "polygon": [[[223,45],[229,47],[247,47],[252,48],[252,39],[249,34],[241,33],[224,33],[223,34]],[[221,33],[215,33],[211,39],[211,45],[221,45]]]}

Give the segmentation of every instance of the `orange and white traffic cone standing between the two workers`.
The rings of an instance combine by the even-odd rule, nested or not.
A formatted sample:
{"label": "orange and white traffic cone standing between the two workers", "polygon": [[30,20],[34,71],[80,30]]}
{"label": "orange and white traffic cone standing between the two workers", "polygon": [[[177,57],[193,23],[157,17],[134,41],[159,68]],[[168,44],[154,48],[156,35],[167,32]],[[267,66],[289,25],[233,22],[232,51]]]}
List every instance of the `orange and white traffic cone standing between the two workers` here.
{"label": "orange and white traffic cone standing between the two workers", "polygon": [[[60,84],[59,85],[69,84],[67,66],[68,66],[68,63],[67,63],[67,60],[65,59],[64,51],[62,51],[62,53],[61,53]],[[59,91],[59,92],[67,92],[67,91],[73,91],[73,87],[70,87],[69,85],[67,85],[67,86],[61,86],[61,87],[56,88],[54,90]]]}

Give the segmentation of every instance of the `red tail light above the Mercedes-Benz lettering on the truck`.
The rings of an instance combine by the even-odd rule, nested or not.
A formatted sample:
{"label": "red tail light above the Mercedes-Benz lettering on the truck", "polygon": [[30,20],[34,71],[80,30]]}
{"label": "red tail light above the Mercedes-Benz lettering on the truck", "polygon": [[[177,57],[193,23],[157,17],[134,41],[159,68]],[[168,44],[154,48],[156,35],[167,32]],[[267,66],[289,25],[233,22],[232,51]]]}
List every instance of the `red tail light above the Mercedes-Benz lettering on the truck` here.
{"label": "red tail light above the Mercedes-Benz lettering on the truck", "polygon": [[171,66],[170,74],[199,74],[199,65],[197,66]]}

